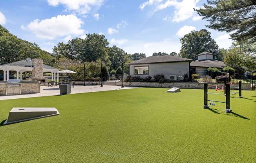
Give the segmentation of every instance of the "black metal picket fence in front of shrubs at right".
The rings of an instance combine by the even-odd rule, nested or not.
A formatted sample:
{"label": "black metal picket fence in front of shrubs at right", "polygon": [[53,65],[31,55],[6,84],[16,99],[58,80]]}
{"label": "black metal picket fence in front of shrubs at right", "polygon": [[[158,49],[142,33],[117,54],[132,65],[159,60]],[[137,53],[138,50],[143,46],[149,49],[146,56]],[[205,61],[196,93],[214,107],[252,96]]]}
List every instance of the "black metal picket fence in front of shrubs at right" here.
{"label": "black metal picket fence in front of shrubs at right", "polygon": [[248,71],[208,71],[199,70],[190,72],[191,82],[232,82],[232,83],[250,83],[256,84],[255,72]]}

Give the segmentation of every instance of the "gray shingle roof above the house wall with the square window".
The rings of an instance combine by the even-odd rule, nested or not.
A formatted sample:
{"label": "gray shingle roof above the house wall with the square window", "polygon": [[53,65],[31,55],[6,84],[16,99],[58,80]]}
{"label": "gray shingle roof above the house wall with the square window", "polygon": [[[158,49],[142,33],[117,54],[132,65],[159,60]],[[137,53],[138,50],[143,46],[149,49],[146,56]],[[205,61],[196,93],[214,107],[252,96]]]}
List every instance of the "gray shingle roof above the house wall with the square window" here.
{"label": "gray shingle roof above the house wall with the square window", "polygon": [[129,63],[130,65],[134,64],[146,64],[146,63],[168,63],[168,62],[190,62],[192,60],[187,59],[187,58],[181,58],[177,56],[149,56],[137,61],[133,61]]}

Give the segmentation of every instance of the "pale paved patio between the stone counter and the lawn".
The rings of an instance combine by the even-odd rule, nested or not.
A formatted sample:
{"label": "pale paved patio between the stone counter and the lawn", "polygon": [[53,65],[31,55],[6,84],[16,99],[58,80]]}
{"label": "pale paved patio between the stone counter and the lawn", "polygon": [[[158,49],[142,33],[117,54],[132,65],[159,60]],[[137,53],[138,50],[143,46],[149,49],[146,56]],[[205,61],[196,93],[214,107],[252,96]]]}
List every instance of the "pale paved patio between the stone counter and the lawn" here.
{"label": "pale paved patio between the stone counter and the lawn", "polygon": [[[113,90],[122,90],[122,89],[133,89],[137,87],[124,87],[113,86],[113,85],[104,85],[101,87],[100,85],[75,85],[74,88],[71,88],[72,94],[76,93],[86,93],[86,92],[100,92],[100,91],[113,91]],[[40,96],[54,96],[60,94],[59,86],[41,86],[41,92],[35,94],[19,94],[19,95],[9,95],[9,96],[0,96],[0,100],[9,100],[16,98],[29,98],[29,97],[40,97]]]}

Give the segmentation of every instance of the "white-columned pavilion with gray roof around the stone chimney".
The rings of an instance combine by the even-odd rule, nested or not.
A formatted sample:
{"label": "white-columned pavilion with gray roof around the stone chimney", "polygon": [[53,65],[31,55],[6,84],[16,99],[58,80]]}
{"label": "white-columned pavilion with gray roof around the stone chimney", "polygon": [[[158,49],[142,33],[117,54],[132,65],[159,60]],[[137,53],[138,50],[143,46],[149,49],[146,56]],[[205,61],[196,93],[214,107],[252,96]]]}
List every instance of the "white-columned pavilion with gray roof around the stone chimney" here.
{"label": "white-columned pavilion with gray roof around the stone chimney", "polygon": [[[32,61],[30,58],[27,58],[26,60],[21,60],[18,62],[7,63],[4,65],[0,65],[0,70],[4,71],[4,81],[9,80],[9,71],[16,71],[17,79],[19,79],[19,73],[20,73],[20,80],[21,80],[23,72],[27,72],[27,71],[32,72],[33,70]],[[43,72],[51,72],[51,80],[56,79],[57,71],[59,71],[59,69],[43,64]]]}

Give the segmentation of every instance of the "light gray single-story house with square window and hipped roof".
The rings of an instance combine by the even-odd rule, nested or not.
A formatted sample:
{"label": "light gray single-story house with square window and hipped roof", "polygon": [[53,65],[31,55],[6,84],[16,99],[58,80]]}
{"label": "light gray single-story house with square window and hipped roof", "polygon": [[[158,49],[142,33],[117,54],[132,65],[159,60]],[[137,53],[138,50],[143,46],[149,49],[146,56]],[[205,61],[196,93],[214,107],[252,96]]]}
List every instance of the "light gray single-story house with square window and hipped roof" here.
{"label": "light gray single-story house with square window and hipped roof", "polygon": [[191,59],[177,56],[149,56],[129,63],[129,69],[131,76],[163,74],[167,80],[179,80],[184,74],[189,75],[190,62]]}

